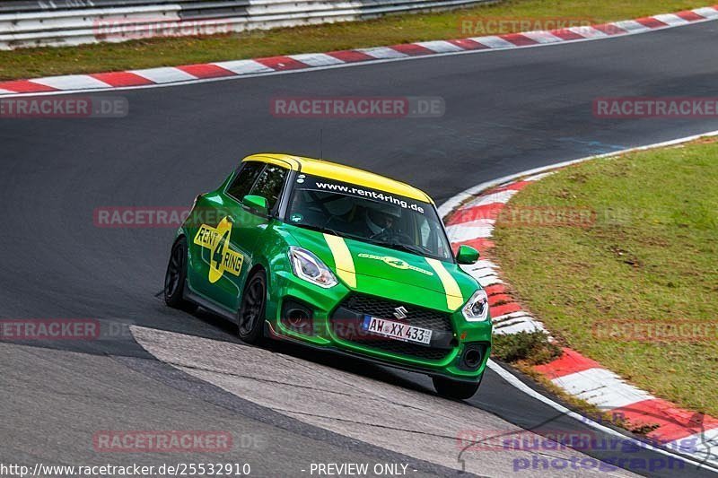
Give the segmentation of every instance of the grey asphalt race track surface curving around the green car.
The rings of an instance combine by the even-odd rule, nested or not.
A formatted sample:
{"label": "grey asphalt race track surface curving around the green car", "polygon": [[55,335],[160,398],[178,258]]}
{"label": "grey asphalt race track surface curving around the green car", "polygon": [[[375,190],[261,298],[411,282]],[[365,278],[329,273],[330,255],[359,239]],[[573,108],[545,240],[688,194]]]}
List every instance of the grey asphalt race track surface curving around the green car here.
{"label": "grey asphalt race track surface curving around the green car", "polygon": [[[592,100],[718,94],[717,36],[718,22],[706,22],[546,48],[101,93],[127,98],[130,114],[120,119],[0,119],[0,317],[92,317],[103,325],[98,340],[0,343],[0,463],[247,462],[256,476],[310,476],[311,463],[400,463],[425,476],[456,474],[463,460],[469,472],[505,476],[531,454],[460,456],[457,433],[590,430],[493,372],[462,404],[434,395],[424,377],[285,344],[247,347],[222,319],[168,309],[157,297],[172,229],[99,228],[93,211],[187,206],[252,152],[321,149],[421,187],[441,204],[524,169],[716,130],[716,119],[600,119]],[[446,113],[270,114],[277,96],[318,95],[438,96]],[[235,447],[209,456],[102,454],[92,448],[98,430],[230,430]],[[708,474],[688,465],[680,473]],[[661,474],[670,472],[652,472]]]}

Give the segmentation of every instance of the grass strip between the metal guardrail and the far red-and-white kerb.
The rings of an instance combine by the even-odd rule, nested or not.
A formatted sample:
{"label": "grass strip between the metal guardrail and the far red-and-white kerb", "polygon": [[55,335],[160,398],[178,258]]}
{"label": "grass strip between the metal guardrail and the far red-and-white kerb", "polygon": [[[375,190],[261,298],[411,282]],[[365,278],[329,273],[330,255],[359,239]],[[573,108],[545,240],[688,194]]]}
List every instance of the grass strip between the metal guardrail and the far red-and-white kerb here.
{"label": "grass strip between the metal guardrail and the far red-and-white kerb", "polygon": [[232,36],[147,39],[66,48],[23,48],[0,52],[0,80],[454,39],[472,36],[460,31],[460,19],[465,17],[571,18],[609,22],[676,12],[705,4],[701,0],[508,0],[448,13],[405,14],[371,22],[336,23]]}

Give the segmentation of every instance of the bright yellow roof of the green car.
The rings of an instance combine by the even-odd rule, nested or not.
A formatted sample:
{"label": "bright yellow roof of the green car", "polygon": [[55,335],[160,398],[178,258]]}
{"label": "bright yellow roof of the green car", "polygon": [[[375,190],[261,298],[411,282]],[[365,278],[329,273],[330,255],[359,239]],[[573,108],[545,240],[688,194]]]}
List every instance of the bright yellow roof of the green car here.
{"label": "bright yellow roof of the green car", "polygon": [[312,176],[320,176],[322,178],[336,179],[337,181],[363,187],[371,187],[372,189],[379,189],[386,193],[405,196],[416,199],[417,201],[433,204],[432,198],[416,187],[336,162],[313,160],[311,158],[302,158],[301,156],[292,156],[290,154],[272,153],[254,154],[248,156],[243,161],[264,161],[270,164],[284,166],[285,168],[289,167],[294,170],[301,169],[303,173],[311,174]]}

